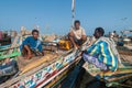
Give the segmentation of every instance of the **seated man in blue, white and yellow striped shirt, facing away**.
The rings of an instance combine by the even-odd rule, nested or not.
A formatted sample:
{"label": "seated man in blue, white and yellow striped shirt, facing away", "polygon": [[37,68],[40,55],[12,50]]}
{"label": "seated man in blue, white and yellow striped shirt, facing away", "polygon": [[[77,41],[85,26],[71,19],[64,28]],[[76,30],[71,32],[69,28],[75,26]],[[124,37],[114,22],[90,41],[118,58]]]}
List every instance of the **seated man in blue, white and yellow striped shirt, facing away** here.
{"label": "seated man in blue, white and yellow striped shirt, facing away", "polygon": [[94,64],[101,70],[117,70],[118,68],[118,53],[113,41],[109,37],[103,37],[103,29],[97,28],[95,31],[96,43],[92,44],[84,54],[86,62]]}

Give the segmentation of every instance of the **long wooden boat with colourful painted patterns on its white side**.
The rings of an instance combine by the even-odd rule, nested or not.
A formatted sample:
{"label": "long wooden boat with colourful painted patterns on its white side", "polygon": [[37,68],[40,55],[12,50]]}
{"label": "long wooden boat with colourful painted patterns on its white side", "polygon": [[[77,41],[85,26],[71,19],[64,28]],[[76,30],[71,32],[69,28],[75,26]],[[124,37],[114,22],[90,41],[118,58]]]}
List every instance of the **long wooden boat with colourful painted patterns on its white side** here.
{"label": "long wooden boat with colourful painted patterns on its white side", "polygon": [[[30,63],[30,69],[25,70],[26,68],[21,66],[21,70],[16,77],[3,82],[0,85],[0,88],[4,87],[14,87],[14,88],[33,88],[33,87],[52,87],[65,76],[70,67],[79,61],[78,55],[80,52],[64,52],[61,55],[50,54],[45,55],[44,57],[34,58],[44,61],[40,63],[41,65],[36,65],[33,61]],[[25,63],[25,62],[24,62]]]}

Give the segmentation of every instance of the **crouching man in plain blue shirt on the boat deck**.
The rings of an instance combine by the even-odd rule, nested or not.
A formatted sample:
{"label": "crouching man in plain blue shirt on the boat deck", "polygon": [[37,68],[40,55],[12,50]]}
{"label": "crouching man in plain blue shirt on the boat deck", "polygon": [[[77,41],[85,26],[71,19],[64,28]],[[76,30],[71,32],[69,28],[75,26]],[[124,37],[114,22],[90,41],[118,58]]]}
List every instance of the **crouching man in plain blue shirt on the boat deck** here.
{"label": "crouching man in plain blue shirt on the boat deck", "polygon": [[44,51],[42,48],[42,43],[37,38],[38,37],[38,31],[33,30],[32,36],[26,37],[22,45],[20,46],[20,50],[22,51],[22,54],[28,55],[28,59],[32,57],[32,53],[38,53],[44,55]]}

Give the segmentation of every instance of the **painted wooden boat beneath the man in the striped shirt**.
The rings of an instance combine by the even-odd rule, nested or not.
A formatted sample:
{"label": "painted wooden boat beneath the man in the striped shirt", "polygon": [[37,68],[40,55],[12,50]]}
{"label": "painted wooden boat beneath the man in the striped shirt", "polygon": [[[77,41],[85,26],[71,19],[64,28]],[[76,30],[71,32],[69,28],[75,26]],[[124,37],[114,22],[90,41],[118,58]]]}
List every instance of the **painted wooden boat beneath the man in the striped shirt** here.
{"label": "painted wooden boat beneath the man in the striped shirt", "polygon": [[[89,74],[88,77],[90,77],[86,81],[90,82],[96,78],[99,79],[99,81],[105,81],[106,87],[118,87],[118,86],[123,87],[122,84],[124,81],[131,80],[130,78],[132,78],[132,63],[128,62],[127,58],[128,58],[127,56],[125,57],[123,56],[122,65],[120,65],[118,70],[114,73],[112,72],[103,73],[94,65],[85,63],[82,67],[86,69],[87,74]],[[130,88],[131,84],[125,86]]]}

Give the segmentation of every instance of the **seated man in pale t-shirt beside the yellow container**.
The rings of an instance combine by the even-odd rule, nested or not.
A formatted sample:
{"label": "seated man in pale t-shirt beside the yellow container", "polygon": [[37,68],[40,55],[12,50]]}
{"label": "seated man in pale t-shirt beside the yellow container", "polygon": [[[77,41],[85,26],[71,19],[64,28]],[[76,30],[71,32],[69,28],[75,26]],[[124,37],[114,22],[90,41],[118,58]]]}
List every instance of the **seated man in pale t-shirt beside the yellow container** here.
{"label": "seated man in pale t-shirt beside the yellow container", "polygon": [[79,47],[87,40],[85,30],[80,26],[78,20],[74,23],[75,28],[72,28],[69,32],[69,40],[75,48]]}

